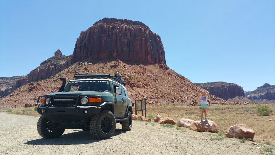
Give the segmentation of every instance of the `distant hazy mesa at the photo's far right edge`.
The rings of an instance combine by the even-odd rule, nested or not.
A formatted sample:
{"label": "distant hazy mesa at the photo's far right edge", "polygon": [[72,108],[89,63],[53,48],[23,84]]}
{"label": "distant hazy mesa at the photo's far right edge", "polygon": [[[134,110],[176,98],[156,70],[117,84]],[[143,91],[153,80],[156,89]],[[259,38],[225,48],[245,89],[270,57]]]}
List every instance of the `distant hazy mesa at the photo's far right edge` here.
{"label": "distant hazy mesa at the photo's far right edge", "polygon": [[261,100],[275,101],[275,86],[265,83],[256,90],[248,92],[247,98],[258,102],[265,102]]}

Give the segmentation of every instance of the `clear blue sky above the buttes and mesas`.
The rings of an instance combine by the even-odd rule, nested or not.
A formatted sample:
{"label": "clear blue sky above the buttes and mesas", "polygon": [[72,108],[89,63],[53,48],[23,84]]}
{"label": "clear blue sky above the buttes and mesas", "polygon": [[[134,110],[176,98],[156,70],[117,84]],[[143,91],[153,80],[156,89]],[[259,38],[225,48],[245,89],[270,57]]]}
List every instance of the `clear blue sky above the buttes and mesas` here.
{"label": "clear blue sky above the buttes and mesas", "polygon": [[0,0],[0,76],[26,75],[73,53],[81,31],[104,18],[141,21],[161,36],[169,68],[191,82],[275,85],[275,1]]}

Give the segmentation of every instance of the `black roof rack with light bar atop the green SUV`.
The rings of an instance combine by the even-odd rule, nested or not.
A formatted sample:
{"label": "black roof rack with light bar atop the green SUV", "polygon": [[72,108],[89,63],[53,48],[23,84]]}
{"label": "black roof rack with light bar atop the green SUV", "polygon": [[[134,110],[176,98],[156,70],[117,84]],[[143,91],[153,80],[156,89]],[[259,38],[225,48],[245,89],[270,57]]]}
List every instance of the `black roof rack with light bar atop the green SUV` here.
{"label": "black roof rack with light bar atop the green SUV", "polygon": [[75,79],[110,79],[110,80],[115,80],[124,86],[126,86],[126,83],[123,80],[120,80],[117,77],[112,76],[111,74],[75,74],[73,76]]}

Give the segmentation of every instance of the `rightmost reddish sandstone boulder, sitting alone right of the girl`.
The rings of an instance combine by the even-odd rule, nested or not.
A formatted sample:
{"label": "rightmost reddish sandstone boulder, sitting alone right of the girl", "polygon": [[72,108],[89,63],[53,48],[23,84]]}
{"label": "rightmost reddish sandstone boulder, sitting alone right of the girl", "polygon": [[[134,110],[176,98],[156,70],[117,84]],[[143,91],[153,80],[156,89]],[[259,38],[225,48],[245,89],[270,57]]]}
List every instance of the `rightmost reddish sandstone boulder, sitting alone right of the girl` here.
{"label": "rightmost reddish sandstone boulder, sitting alone right of the girl", "polygon": [[230,126],[226,130],[225,135],[227,137],[238,137],[238,138],[250,138],[253,139],[255,135],[255,131],[251,128],[249,128],[246,124],[236,124],[233,126]]}

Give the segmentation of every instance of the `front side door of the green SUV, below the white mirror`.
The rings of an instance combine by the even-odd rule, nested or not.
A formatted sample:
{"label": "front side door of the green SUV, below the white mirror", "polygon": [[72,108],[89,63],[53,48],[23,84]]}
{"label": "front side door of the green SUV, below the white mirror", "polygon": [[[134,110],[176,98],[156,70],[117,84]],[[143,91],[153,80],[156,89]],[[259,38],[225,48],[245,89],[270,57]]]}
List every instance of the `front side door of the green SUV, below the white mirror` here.
{"label": "front side door of the green SUV, below the white mirror", "polygon": [[114,116],[115,118],[123,118],[125,115],[125,110],[123,110],[122,99],[123,96],[121,94],[117,94],[116,87],[121,87],[119,84],[113,83],[114,88]]}

